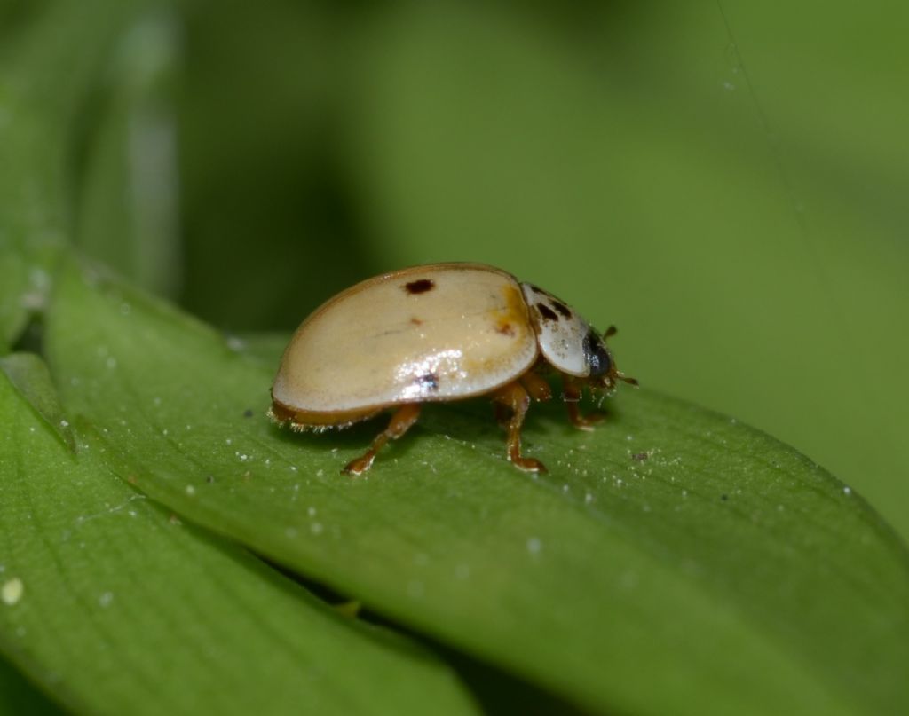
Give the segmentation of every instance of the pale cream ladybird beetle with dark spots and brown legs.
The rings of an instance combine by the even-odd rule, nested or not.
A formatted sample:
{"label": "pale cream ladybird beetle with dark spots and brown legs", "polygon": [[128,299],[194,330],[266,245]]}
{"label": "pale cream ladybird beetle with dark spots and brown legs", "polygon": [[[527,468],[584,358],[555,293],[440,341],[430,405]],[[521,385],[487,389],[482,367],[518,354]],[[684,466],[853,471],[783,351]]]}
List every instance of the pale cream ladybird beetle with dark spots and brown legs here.
{"label": "pale cream ladybird beetle with dark spots and brown legs", "polygon": [[361,474],[416,422],[421,403],[488,395],[508,428],[508,459],[540,472],[542,462],[521,454],[521,426],[531,399],[552,397],[546,373],[561,375],[568,416],[582,430],[601,417],[578,410],[584,387],[637,384],[605,347],[614,333],[597,333],[551,293],[493,266],[414,266],[338,293],[297,328],[269,415],[320,431],[394,408],[388,428],[344,468]]}

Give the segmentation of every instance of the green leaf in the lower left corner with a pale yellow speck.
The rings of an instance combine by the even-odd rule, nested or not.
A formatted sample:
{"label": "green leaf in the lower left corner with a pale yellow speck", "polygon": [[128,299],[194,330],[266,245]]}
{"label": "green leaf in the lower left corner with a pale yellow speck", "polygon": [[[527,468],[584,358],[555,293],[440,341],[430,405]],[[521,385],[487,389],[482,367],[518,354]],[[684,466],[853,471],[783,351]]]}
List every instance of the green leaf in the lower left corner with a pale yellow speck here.
{"label": "green leaf in the lower left corner with a pale yellow speck", "polygon": [[0,415],[0,652],[67,709],[474,712],[428,651],[73,454],[5,376]]}

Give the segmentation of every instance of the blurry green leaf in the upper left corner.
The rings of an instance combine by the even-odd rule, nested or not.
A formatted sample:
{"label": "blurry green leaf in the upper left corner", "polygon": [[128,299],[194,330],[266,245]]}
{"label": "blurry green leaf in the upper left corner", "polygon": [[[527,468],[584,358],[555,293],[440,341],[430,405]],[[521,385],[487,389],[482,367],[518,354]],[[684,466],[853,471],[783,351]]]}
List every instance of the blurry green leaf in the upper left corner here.
{"label": "blurry green leaf in the upper left corner", "polygon": [[69,229],[79,111],[101,58],[143,2],[17,8],[0,48],[0,350],[15,342],[50,288]]}

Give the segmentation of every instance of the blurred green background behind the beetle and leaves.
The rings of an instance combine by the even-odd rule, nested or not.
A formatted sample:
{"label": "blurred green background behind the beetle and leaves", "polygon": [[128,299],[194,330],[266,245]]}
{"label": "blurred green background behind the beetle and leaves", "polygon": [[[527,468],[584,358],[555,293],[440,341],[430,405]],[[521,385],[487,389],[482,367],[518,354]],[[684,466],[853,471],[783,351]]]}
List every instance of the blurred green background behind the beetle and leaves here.
{"label": "blurred green background behind the beetle and leaves", "polygon": [[502,266],[909,534],[905,4],[147,6],[78,123],[87,252],[234,333]]}

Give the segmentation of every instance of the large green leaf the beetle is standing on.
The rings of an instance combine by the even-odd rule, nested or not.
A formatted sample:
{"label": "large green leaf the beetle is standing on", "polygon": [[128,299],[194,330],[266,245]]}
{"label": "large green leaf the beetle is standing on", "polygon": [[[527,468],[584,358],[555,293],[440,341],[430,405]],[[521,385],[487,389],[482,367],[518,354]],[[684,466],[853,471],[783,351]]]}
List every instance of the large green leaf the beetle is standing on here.
{"label": "large green leaf the beetle is standing on", "polygon": [[590,434],[535,406],[534,478],[482,402],[440,405],[354,480],[338,470],[379,425],[278,430],[274,364],[96,272],[69,268],[48,348],[139,489],[586,709],[909,707],[904,544],[734,420],[624,391]]}

